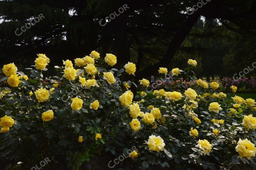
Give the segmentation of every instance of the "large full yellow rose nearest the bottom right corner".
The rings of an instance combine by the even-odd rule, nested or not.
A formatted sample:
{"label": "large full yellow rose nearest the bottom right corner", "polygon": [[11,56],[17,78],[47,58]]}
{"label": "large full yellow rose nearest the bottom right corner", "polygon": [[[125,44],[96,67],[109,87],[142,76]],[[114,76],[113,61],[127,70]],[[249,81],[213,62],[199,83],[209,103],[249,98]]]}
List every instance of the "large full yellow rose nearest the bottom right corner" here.
{"label": "large full yellow rose nearest the bottom right corner", "polygon": [[239,153],[239,156],[241,158],[246,157],[248,160],[250,160],[252,156],[255,156],[256,148],[255,145],[247,138],[244,140],[241,140],[239,138],[236,146],[236,151]]}

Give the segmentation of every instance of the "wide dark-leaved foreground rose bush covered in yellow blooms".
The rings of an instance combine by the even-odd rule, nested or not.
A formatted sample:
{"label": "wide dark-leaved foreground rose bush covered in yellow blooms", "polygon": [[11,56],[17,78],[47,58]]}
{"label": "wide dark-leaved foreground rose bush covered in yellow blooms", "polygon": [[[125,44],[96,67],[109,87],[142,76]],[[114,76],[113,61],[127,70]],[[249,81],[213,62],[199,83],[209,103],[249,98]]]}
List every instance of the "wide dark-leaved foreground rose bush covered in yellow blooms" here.
{"label": "wide dark-leaved foreground rose bush covered in yellow blooms", "polygon": [[[48,157],[47,169],[253,169],[256,164],[255,102],[193,88],[133,95],[135,64],[112,68],[118,57],[90,56],[55,66],[38,54],[27,77],[5,66],[1,87],[0,156],[3,169],[31,169]],[[109,66],[102,67],[108,63]],[[190,69],[196,66],[189,60]],[[105,64],[106,65],[106,64]],[[159,69],[160,74],[167,72]],[[131,75],[132,74],[132,75]],[[8,81],[9,80],[9,81]],[[230,100],[229,100],[230,99]],[[232,102],[231,102],[232,101]],[[246,102],[247,101],[247,102]],[[128,152],[131,148],[136,148]],[[124,155],[124,156],[123,156]],[[120,157],[121,156],[121,157]]]}

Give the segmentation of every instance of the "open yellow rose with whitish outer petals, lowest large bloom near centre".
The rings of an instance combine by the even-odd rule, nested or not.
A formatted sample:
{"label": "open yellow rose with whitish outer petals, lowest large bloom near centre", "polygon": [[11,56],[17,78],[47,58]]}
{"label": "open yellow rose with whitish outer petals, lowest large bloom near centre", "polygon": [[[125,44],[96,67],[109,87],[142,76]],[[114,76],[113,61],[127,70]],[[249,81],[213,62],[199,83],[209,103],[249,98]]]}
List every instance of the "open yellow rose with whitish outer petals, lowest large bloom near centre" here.
{"label": "open yellow rose with whitish outer petals, lowest large bloom near centre", "polygon": [[160,136],[151,135],[149,136],[148,142],[147,142],[149,150],[152,151],[162,151],[165,143],[164,140]]}

